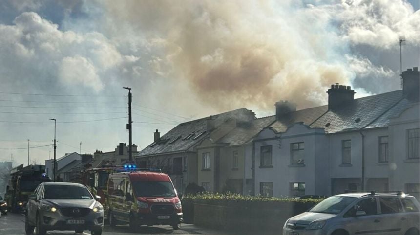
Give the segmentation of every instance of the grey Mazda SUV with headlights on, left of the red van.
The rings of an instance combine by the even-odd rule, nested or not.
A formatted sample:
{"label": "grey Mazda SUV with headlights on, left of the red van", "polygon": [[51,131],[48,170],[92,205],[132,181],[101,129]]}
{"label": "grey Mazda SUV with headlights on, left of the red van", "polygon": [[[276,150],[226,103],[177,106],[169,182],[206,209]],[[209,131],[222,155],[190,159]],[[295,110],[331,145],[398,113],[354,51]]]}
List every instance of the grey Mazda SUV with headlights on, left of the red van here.
{"label": "grey Mazda SUV with headlights on, left of the red van", "polygon": [[[96,197],[96,199],[95,199]],[[101,235],[104,208],[95,196],[79,183],[41,183],[26,206],[26,234],[44,235],[47,230],[73,230]]]}

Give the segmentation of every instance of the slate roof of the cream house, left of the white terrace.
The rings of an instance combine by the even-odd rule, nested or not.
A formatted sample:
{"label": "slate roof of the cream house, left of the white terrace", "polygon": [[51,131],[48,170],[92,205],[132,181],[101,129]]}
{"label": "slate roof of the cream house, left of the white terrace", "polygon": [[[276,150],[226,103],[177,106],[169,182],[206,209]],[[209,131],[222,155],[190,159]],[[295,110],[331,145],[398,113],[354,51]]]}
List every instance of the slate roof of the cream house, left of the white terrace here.
{"label": "slate roof of the cream house, left of the white terrace", "polygon": [[275,121],[274,116],[257,118],[250,125],[236,127],[227,135],[219,139],[218,143],[233,145],[243,145],[257,135],[264,127],[269,126]]}

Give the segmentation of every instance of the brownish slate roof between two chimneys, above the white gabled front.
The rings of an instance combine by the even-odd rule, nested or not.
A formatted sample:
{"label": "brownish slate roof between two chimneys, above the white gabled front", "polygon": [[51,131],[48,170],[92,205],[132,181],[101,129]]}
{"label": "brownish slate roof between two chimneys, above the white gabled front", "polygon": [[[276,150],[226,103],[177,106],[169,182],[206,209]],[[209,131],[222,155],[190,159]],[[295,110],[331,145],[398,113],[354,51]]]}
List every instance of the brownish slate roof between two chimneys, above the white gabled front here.
{"label": "brownish slate roof between two chimneys, above the white gabled front", "polygon": [[275,129],[277,132],[285,132],[288,127],[297,122],[302,122],[303,124],[309,126],[327,111],[328,105],[297,110],[290,113],[287,117],[275,121],[270,127]]}

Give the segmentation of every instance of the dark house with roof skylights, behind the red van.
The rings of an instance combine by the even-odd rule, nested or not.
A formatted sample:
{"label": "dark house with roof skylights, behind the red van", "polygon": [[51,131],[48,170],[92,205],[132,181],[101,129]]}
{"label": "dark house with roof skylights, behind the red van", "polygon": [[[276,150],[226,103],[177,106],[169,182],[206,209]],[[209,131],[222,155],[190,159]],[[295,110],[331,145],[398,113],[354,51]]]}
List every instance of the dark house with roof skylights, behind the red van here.
{"label": "dark house with roof skylights, behind the red van", "polygon": [[228,134],[239,117],[255,118],[252,111],[241,108],[181,123],[162,137],[156,130],[153,143],[136,156],[137,167],[161,168],[170,175],[176,189],[184,192],[189,183],[198,183],[198,146],[204,139],[220,139]]}

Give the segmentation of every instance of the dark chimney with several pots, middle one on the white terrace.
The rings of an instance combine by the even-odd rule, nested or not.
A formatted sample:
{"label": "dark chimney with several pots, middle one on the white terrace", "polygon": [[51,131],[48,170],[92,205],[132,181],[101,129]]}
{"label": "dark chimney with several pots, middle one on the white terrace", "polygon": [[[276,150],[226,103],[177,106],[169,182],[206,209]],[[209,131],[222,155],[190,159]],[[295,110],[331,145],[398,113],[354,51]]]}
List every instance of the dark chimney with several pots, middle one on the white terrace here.
{"label": "dark chimney with several pots, middle one on the white terrace", "polygon": [[334,110],[343,105],[348,105],[355,99],[355,90],[352,90],[350,86],[343,86],[336,83],[331,85],[328,89],[328,109]]}

